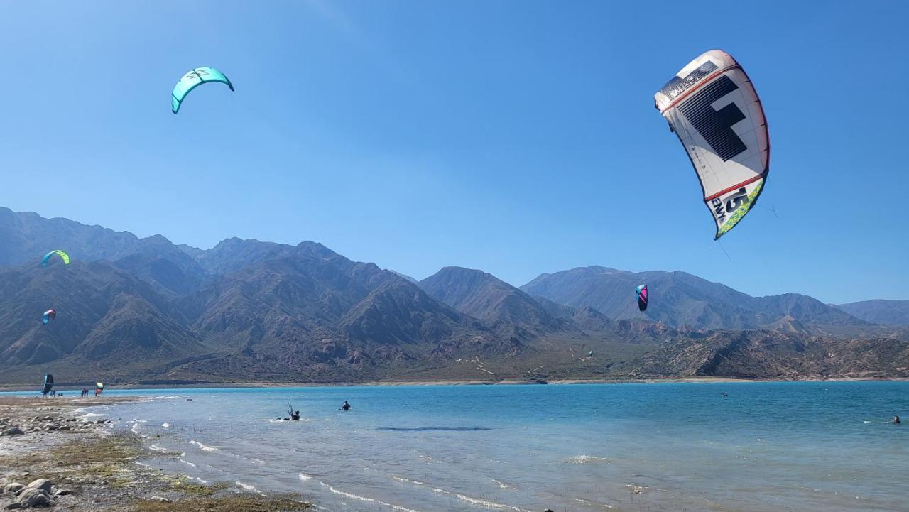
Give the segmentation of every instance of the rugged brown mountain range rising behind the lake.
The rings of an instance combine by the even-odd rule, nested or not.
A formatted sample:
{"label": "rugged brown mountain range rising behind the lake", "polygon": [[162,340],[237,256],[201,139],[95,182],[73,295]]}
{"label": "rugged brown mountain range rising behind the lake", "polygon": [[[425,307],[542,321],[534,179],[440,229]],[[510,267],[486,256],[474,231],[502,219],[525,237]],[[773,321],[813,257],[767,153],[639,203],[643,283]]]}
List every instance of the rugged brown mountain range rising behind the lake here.
{"label": "rugged brown mountain range rising behind the lake", "polygon": [[[315,242],[204,250],[3,207],[0,241],[4,384],[909,376],[909,301],[602,266],[520,287],[454,266],[416,281]],[[72,264],[41,266],[58,248]]]}

